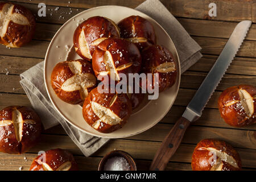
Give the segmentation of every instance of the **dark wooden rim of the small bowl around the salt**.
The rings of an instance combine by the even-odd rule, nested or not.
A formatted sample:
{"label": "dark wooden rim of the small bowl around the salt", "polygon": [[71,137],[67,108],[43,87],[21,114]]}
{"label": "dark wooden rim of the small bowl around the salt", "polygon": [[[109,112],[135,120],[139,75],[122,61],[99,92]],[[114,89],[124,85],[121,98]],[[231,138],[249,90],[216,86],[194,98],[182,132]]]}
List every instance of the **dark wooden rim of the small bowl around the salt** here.
{"label": "dark wooden rim of the small bowl around the salt", "polygon": [[137,167],[136,167],[136,163],[134,162],[133,157],[128,154],[125,151],[122,150],[114,150],[109,152],[108,154],[106,154],[102,159],[100,164],[98,164],[98,171],[104,171],[104,166],[106,164],[106,162],[108,161],[108,159],[113,158],[113,157],[123,157],[127,160],[127,162],[129,163],[130,166],[130,171],[137,171]]}

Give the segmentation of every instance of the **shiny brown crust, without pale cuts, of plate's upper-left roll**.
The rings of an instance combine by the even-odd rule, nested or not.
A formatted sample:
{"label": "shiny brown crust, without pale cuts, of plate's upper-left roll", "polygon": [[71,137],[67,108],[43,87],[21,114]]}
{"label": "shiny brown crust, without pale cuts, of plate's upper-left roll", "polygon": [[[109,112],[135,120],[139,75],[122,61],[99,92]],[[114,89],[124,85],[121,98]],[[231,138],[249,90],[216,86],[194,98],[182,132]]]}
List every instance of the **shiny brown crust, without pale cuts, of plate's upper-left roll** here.
{"label": "shiny brown crust, without pale cuts, of plate's upper-left roll", "polygon": [[79,36],[84,31],[86,42],[88,42],[90,55],[93,55],[97,45],[93,46],[91,43],[100,38],[120,38],[119,29],[117,25],[110,19],[102,16],[93,16],[82,22],[75,30],[73,35],[73,44],[77,48],[76,53],[82,59],[90,60],[85,57],[79,46]]}

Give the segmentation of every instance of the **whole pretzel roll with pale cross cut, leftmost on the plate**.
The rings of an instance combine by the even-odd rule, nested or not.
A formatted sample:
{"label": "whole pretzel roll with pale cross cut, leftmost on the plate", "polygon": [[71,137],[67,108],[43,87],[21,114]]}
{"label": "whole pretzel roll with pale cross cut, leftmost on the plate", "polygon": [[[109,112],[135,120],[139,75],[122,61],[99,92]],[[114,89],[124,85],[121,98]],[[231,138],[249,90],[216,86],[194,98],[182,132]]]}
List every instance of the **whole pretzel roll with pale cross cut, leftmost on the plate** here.
{"label": "whole pretzel roll with pale cross cut, leftmost on the plate", "polygon": [[97,86],[97,78],[89,61],[63,61],[53,68],[51,84],[61,100],[69,104],[79,104]]}

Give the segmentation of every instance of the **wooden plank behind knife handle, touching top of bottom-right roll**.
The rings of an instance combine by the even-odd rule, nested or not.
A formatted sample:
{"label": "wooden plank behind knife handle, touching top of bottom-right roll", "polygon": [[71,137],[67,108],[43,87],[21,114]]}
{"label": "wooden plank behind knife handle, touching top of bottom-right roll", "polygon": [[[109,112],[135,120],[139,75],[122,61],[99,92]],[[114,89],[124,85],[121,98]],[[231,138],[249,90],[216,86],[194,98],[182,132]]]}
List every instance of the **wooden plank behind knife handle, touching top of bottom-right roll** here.
{"label": "wooden plank behind knife handle, touching top of bottom-right roll", "polygon": [[[141,134],[127,139],[139,139],[161,142],[173,125],[157,124]],[[186,131],[183,142],[196,144],[205,138],[222,139],[234,147],[256,149],[256,131],[221,129],[215,127],[190,126]]]}

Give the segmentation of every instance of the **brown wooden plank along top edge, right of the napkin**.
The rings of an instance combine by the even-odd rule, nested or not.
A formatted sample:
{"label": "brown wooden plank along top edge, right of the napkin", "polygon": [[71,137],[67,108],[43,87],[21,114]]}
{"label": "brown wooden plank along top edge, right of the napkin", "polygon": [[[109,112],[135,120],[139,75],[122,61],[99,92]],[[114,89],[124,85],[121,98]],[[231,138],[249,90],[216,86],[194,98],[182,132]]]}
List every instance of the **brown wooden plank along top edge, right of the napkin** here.
{"label": "brown wooden plank along top edge, right of the napkin", "polygon": [[[255,2],[248,1],[215,1],[217,5],[217,16],[210,17],[208,5],[212,3],[210,0],[187,1],[187,0],[173,0],[163,1],[163,4],[175,16],[186,18],[200,18],[211,20],[229,20],[241,21],[252,20],[255,22],[255,14],[253,14],[253,6]],[[183,10],[183,11],[180,11]]]}

